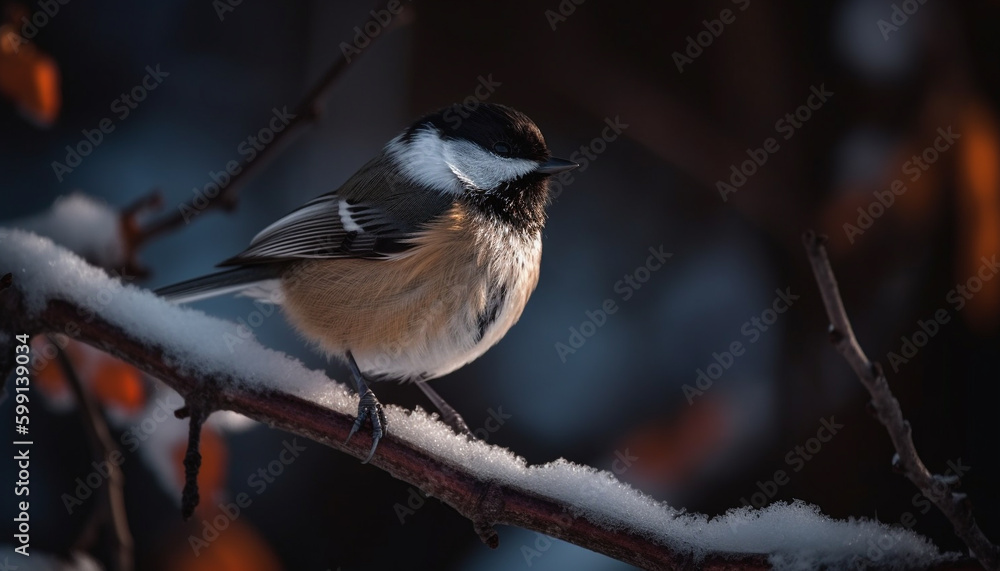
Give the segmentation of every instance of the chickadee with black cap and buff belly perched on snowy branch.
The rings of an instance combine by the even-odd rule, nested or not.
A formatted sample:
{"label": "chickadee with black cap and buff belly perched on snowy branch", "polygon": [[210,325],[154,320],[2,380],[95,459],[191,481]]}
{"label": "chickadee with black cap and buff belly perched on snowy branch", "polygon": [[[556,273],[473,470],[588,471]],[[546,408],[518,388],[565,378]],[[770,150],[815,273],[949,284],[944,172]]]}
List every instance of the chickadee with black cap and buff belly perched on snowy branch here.
{"label": "chickadee with black cap and buff belly perched on snowy branch", "polygon": [[280,303],[291,324],[345,361],[361,400],[348,440],[388,428],[369,380],[425,381],[486,352],[538,283],[552,158],[510,107],[456,105],[416,121],[337,190],[264,228],[232,269],[158,290],[177,302],[240,292]]}

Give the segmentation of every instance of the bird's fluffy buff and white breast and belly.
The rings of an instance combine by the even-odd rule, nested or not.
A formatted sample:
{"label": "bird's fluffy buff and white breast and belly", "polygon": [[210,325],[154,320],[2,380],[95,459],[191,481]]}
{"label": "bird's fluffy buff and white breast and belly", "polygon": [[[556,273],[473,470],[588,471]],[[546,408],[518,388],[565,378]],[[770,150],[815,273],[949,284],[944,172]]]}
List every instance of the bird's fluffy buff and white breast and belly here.
{"label": "bird's fluffy buff and white breast and belly", "polygon": [[399,257],[297,263],[282,279],[289,320],[367,375],[447,374],[503,337],[538,282],[540,236],[489,224],[456,205]]}

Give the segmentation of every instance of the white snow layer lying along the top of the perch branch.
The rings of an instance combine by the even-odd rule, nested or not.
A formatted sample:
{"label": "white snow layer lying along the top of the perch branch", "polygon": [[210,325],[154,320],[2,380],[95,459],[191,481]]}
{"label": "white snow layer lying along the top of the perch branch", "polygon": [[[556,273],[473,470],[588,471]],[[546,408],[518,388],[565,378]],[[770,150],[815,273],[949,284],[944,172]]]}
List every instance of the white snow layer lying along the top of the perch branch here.
{"label": "white snow layer lying along the top of the perch branch", "polygon": [[[248,388],[282,390],[351,415],[357,411],[357,397],[343,385],[261,346],[249,331],[108,278],[46,238],[0,230],[0,273],[6,271],[27,293],[30,312],[40,311],[49,299],[71,300],[163,348],[182,369]],[[420,410],[389,406],[386,415],[394,436],[479,478],[562,500],[574,506],[573,515],[608,528],[637,526],[648,538],[695,558],[709,552],[767,554],[777,568],[806,569],[846,568],[858,558],[908,568],[952,557],[909,530],[866,520],[835,521],[802,502],[733,509],[716,518],[687,514],[594,468],[562,459],[528,466],[509,450],[454,434]]]}

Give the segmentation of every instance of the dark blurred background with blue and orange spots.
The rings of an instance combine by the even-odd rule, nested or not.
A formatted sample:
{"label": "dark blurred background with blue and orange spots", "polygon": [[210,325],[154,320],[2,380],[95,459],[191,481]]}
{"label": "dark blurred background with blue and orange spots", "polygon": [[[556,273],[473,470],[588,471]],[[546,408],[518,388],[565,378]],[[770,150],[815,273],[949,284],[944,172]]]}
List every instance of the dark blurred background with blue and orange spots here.
{"label": "dark blurred background with blue and orange spots", "polygon": [[[275,109],[293,109],[343,46],[370,38],[374,7],[0,5],[2,223],[76,191],[114,208],[153,189],[167,212],[190,200],[211,173],[247,158],[248,138]],[[962,550],[891,470],[867,393],[829,344],[801,244],[815,229],[829,235],[858,338],[885,366],[925,462],[962,472],[980,526],[1000,538],[1000,279],[984,263],[1000,251],[1000,3],[402,6],[390,29],[369,26],[377,36],[320,120],[257,172],[234,212],[201,215],[143,250],[142,285],[208,272],[336,188],[414,118],[485,97],[527,113],[554,154],[586,168],[559,185],[520,322],[434,383],[473,430],[531,463],[612,470],[690,511],[798,498],[836,518],[898,524],[908,512],[917,532]],[[143,100],[122,100],[150,71]],[[104,119],[113,131],[69,162],[67,146]],[[649,263],[650,248],[672,256]],[[234,321],[256,309],[238,298],[197,307]],[[615,311],[602,318],[606,307]],[[936,312],[947,321],[935,328]],[[254,333],[345,378],[277,315]],[[513,528],[491,551],[450,508],[354,458],[300,438],[305,450],[275,464],[290,436],[231,417],[207,429],[205,499],[185,524],[186,422],[163,414],[179,398],[96,351],[69,352],[115,438],[144,436],[135,451],[123,446],[122,464],[139,569],[627,568]],[[43,443],[32,549],[84,547],[107,566],[107,530],[91,523],[100,502],[65,500],[94,471],[80,416],[56,368],[35,389],[45,405],[32,409]],[[429,408],[416,387],[375,390],[383,403]],[[0,416],[12,414],[7,399]],[[827,438],[827,424],[842,427]],[[261,469],[272,475],[263,486]],[[13,481],[12,463],[0,472]],[[190,536],[239,493],[252,505],[196,556]],[[12,513],[14,496],[0,504]],[[9,518],[0,527],[13,533]]]}

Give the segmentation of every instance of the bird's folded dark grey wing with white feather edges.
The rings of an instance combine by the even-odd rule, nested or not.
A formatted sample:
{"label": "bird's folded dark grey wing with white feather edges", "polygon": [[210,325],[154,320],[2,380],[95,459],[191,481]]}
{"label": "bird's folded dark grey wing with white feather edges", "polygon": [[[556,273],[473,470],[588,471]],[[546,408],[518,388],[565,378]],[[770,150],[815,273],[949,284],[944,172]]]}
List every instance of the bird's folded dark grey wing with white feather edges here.
{"label": "bird's folded dark grey wing with white feather edges", "polygon": [[414,187],[384,168],[380,156],[341,188],[309,201],[264,228],[250,247],[220,266],[303,258],[386,259],[413,246],[412,238],[447,211],[453,199]]}

